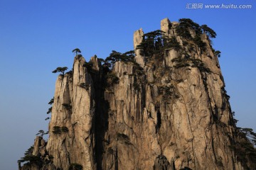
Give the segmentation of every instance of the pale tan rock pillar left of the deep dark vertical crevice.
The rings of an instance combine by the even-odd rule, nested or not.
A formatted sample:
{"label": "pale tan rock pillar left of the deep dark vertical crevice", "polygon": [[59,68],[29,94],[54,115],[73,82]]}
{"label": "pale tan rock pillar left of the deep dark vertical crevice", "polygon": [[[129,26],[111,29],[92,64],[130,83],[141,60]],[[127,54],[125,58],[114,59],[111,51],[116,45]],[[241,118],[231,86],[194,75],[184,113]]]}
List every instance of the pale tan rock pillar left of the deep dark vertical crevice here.
{"label": "pale tan rock pillar left of the deep dark vertical crevice", "polygon": [[[70,164],[81,164],[84,169],[95,167],[92,125],[95,115],[95,92],[92,77],[84,64],[83,57],[75,57],[73,72],[65,74],[64,77],[60,75],[55,85],[47,150],[49,155],[54,157],[55,167],[60,169],[68,169]],[[83,85],[89,88],[85,89]],[[54,126],[66,127],[68,132],[55,134]]]}

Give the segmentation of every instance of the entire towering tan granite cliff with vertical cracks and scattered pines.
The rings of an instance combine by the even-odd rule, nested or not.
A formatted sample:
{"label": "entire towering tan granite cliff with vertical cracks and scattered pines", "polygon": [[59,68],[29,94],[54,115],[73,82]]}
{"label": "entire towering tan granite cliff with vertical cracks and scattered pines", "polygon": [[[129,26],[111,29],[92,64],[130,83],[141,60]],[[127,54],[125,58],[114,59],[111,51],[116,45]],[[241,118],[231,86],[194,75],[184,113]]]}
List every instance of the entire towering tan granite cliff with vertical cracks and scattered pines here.
{"label": "entire towering tan granite cliff with vertical cracks and scattered pines", "polygon": [[201,47],[178,35],[179,24],[161,21],[162,36],[178,46],[150,56],[137,30],[136,62],[117,61],[112,70],[77,55],[56,81],[48,142],[35,140],[41,166],[20,169],[250,167],[230,147],[236,128],[208,35]]}

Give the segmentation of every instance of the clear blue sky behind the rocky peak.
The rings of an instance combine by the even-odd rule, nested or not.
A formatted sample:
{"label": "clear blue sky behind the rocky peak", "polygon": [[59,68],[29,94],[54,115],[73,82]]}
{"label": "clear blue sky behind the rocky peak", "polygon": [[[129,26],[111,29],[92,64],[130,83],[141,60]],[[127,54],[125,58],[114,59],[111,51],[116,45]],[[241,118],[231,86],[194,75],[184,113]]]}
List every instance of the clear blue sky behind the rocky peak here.
{"label": "clear blue sky behind the rocky peak", "polygon": [[[203,8],[192,8],[192,4]],[[252,8],[206,8],[250,4]],[[188,8],[186,8],[186,6]],[[75,47],[86,60],[133,48],[134,30],[160,28],[160,21],[191,18],[217,33],[220,66],[238,126],[256,130],[255,0],[0,0],[0,169],[17,168],[33,145],[53,97],[56,67],[73,64]]]}

